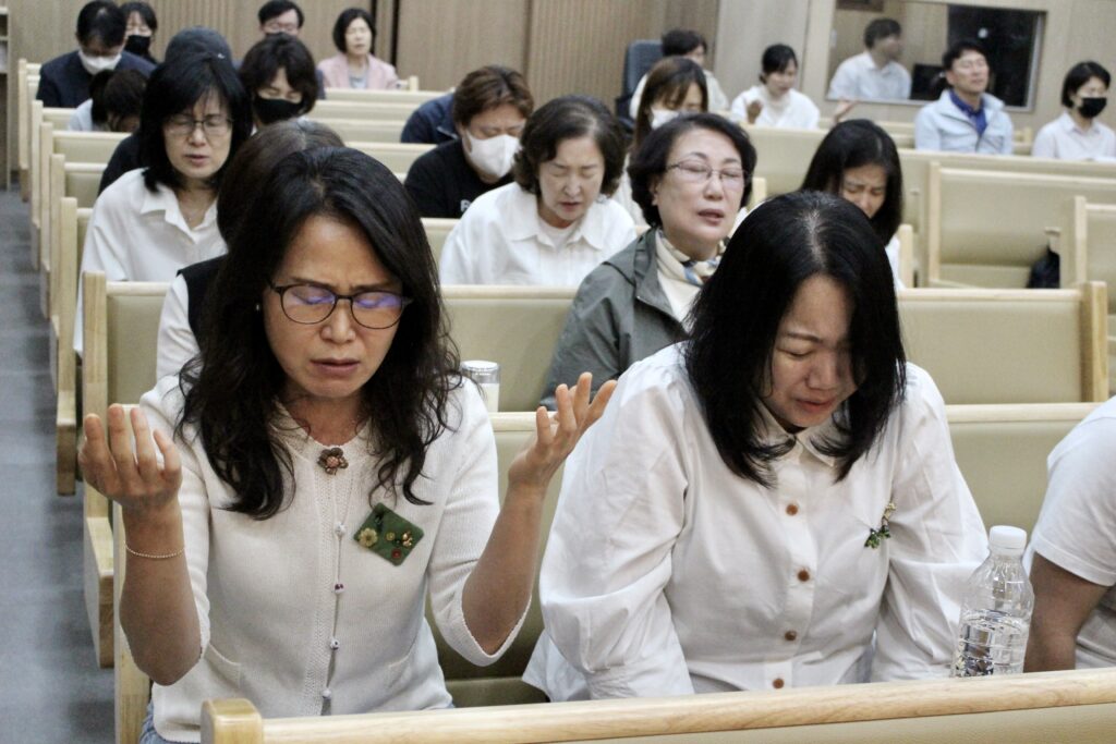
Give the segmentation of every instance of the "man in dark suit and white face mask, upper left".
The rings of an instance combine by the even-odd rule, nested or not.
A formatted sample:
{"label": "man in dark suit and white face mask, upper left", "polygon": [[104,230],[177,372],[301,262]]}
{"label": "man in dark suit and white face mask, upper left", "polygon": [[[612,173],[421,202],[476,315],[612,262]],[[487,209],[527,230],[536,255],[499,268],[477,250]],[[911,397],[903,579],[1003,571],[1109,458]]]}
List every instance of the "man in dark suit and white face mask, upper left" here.
{"label": "man in dark suit and white face mask, upper left", "polygon": [[39,89],[44,106],[76,108],[89,98],[89,83],[103,70],[140,70],[144,76],[155,66],[124,49],[127,20],[124,11],[108,0],[86,3],[77,15],[77,50],[44,62]]}

